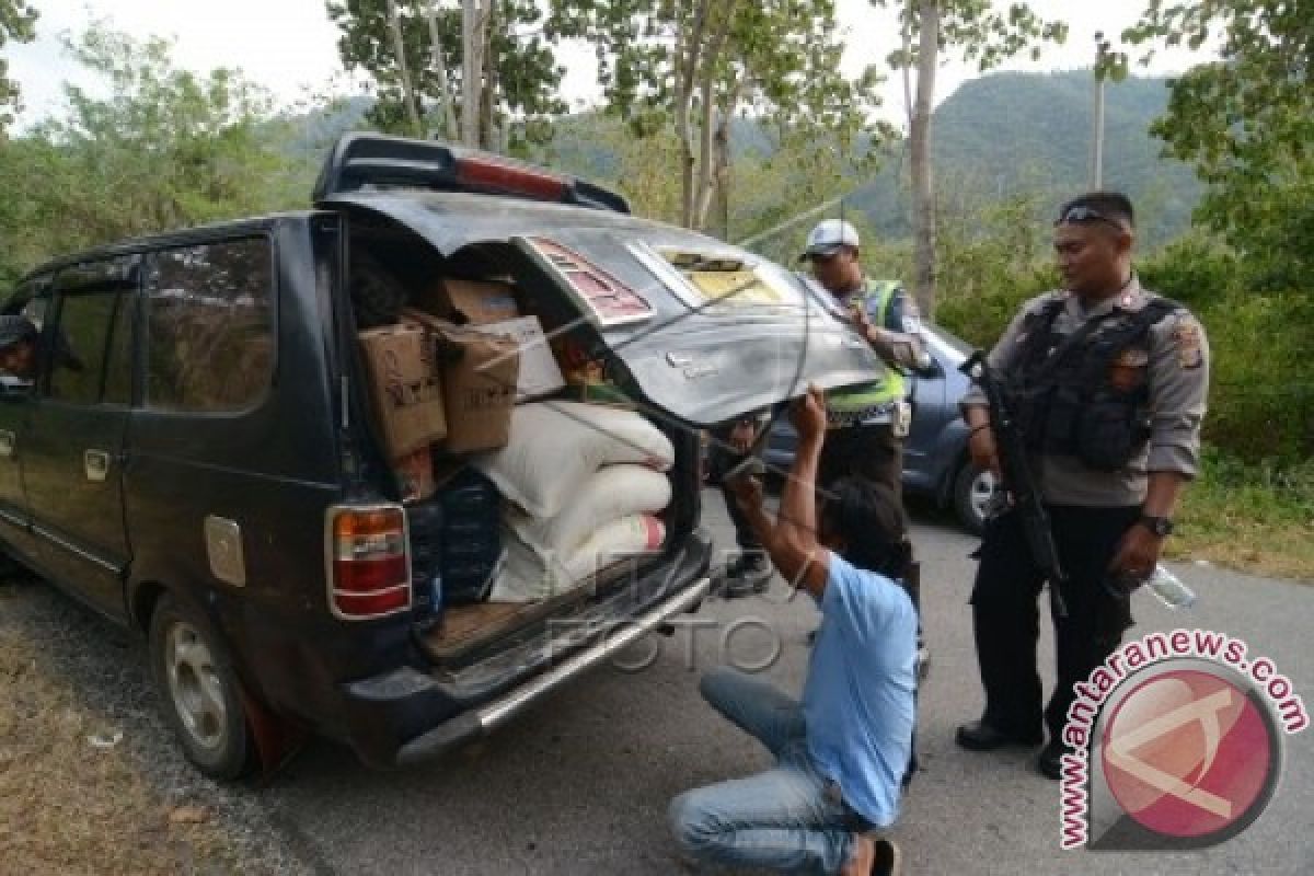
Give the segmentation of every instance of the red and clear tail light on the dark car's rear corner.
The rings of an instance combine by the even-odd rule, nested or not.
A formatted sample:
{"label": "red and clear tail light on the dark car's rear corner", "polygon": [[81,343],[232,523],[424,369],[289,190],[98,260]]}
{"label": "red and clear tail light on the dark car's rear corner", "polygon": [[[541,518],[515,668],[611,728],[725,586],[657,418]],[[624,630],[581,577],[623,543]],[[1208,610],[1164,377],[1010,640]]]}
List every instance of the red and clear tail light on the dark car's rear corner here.
{"label": "red and clear tail light on the dark car's rear corner", "polygon": [[328,511],[328,605],[343,620],[409,611],[410,545],[401,506]]}

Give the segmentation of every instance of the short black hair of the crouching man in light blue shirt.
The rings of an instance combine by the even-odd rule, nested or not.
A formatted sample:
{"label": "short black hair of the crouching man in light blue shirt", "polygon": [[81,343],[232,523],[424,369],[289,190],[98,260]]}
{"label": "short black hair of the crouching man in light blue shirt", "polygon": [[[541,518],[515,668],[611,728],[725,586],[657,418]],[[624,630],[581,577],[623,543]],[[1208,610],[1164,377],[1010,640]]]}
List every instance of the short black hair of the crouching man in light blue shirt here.
{"label": "short black hair of the crouching man in light blue shirt", "polygon": [[848,562],[894,579],[908,574],[908,519],[888,486],[840,478],[824,491],[820,515],[821,532],[844,540],[840,554]]}

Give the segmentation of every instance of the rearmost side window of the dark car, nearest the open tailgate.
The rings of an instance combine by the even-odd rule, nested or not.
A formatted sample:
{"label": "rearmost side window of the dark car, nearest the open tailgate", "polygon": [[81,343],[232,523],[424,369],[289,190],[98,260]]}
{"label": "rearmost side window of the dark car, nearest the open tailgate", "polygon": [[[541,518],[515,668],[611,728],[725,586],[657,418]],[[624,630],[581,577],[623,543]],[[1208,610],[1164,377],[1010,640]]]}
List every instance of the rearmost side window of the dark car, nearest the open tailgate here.
{"label": "rearmost side window of the dark car, nearest the open tailgate", "polygon": [[146,289],[146,405],[239,411],[273,376],[273,256],[265,238],[156,252]]}

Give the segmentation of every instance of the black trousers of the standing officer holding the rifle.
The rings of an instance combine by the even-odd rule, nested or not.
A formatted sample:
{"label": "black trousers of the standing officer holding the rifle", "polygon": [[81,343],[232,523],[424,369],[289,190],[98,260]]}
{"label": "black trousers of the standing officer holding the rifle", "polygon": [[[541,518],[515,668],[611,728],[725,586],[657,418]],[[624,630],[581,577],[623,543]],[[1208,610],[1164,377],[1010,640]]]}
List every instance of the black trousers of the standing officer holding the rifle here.
{"label": "black trousers of the standing officer holding the rifle", "polygon": [[[1110,592],[1105,575],[1118,541],[1135,524],[1141,508],[1051,506],[1050,516],[1067,577],[1060,588],[1067,617],[1053,617],[1058,680],[1043,720],[1050,738],[1059,739],[1075,697],[1072,686],[1084,682],[1118,647],[1131,625],[1130,598]],[[984,721],[1007,733],[1037,734],[1042,718],[1041,678],[1035,671],[1037,598],[1045,582],[1016,512],[986,524],[979,557],[971,603],[976,659],[986,688]]]}

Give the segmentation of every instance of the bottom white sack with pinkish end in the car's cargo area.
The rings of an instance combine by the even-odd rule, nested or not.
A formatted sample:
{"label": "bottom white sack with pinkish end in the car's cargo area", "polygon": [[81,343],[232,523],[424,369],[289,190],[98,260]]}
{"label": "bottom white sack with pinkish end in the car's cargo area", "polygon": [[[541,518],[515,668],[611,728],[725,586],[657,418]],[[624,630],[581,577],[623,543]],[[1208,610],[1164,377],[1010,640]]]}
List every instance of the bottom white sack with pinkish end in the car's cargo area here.
{"label": "bottom white sack with pinkish end in the car's cargo area", "polygon": [[493,582],[489,602],[532,603],[549,599],[627,557],[660,549],[665,540],[666,527],[652,515],[614,520],[569,554],[540,554],[515,533],[505,531],[506,563]]}

